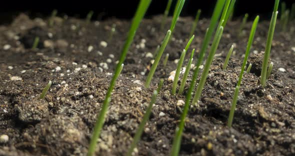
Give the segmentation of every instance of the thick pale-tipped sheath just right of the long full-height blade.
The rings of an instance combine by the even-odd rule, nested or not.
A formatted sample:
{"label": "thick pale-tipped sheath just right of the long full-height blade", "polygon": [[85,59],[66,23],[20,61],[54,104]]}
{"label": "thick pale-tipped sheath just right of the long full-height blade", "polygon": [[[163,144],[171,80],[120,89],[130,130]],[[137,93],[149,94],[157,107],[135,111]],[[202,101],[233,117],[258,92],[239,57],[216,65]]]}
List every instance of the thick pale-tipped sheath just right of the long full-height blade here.
{"label": "thick pale-tipped sheath just right of the long full-height blade", "polygon": [[213,39],[213,42],[212,42],[212,47],[210,49],[210,52],[208,54],[208,58],[207,58],[206,63],[204,65],[204,70],[202,72],[201,78],[200,78],[200,80],[198,82],[198,85],[197,85],[197,88],[196,88],[196,91],[195,91],[195,94],[194,94],[194,97],[192,99],[192,104],[194,104],[194,105],[199,100],[199,97],[200,97],[201,92],[203,90],[203,87],[204,87],[205,81],[207,79],[207,75],[208,75],[210,66],[212,64],[216,49],[218,47],[220,38],[222,36],[222,33],[223,33],[223,27],[220,26],[218,28],[215,36],[214,36],[214,39]]}

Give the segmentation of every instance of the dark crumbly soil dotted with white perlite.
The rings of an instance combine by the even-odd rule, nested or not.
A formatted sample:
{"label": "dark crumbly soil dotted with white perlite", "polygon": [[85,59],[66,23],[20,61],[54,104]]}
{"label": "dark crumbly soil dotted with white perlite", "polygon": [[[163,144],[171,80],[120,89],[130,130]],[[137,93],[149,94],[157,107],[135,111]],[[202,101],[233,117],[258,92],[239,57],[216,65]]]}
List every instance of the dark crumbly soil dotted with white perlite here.
{"label": "dark crumbly soil dotted with white perlite", "polygon": [[[31,20],[20,14],[10,25],[0,26],[0,155],[87,152],[96,114],[130,22],[54,21],[54,26],[48,27],[47,20]],[[159,64],[150,88],[145,88],[152,59],[146,53],[153,53],[160,44],[170,19],[164,31],[158,28],[160,21],[161,17],[155,16],[140,24],[112,93],[97,155],[123,155],[127,151],[159,78],[165,79],[164,84],[134,154],[168,155],[171,149],[182,109],[177,101],[184,101],[185,96],[170,94],[172,81],[168,77],[185,47],[192,19],[179,18],[165,49],[170,54],[167,66]],[[199,21],[189,53],[196,48],[198,54],[208,22]],[[113,23],[116,32],[109,40]],[[244,73],[232,128],[226,121],[251,22],[241,37],[237,37],[240,21],[227,24],[200,102],[186,118],[180,155],[295,155],[294,27],[280,32],[277,25],[271,50],[274,67],[263,89],[259,73],[268,23],[258,24],[248,59],[252,69]],[[40,38],[38,49],[30,49],[35,36]],[[227,70],[222,70],[231,44],[235,52]],[[45,99],[38,100],[49,80],[52,85]]]}

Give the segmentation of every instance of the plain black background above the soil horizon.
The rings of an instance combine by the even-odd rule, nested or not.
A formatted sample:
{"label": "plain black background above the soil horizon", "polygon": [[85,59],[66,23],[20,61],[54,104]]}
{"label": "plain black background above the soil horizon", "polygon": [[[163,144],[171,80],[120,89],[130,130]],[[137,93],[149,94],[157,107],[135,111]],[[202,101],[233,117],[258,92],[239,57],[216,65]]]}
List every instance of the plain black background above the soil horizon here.
{"label": "plain black background above the soil horizon", "polygon": [[[280,0],[291,7],[295,0]],[[102,16],[131,18],[139,0],[5,0],[0,5],[0,23],[9,23],[19,12],[26,12],[31,17],[48,16],[56,8],[58,15],[84,18],[89,10],[94,11],[93,19]],[[172,9],[176,0],[173,0]],[[198,8],[202,9],[201,17],[209,17],[216,0],[186,0],[182,16],[194,16]],[[167,0],[152,0],[146,16],[160,14],[164,11]],[[240,17],[249,13],[250,17],[259,14],[262,19],[270,19],[274,0],[236,0],[234,16]],[[172,12],[172,10],[170,10]]]}

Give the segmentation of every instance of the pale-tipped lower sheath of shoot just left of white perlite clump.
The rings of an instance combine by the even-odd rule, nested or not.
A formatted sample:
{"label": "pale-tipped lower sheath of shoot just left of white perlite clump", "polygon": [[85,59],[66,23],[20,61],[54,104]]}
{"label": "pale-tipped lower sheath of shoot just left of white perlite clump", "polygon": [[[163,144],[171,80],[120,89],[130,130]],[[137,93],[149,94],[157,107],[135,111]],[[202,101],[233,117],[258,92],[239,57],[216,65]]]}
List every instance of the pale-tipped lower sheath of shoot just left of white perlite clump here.
{"label": "pale-tipped lower sheath of shoot just left of white perlite clump", "polygon": [[149,70],[149,72],[148,72],[148,75],[147,75],[147,77],[146,77],[145,84],[144,84],[144,86],[145,86],[146,88],[149,87],[149,84],[150,84],[150,81],[151,81],[152,76],[153,76],[153,74],[154,74],[154,71],[155,71],[155,69],[156,69],[156,67],[157,67],[157,64],[158,64],[159,61],[160,61],[160,58],[161,58],[161,56],[162,56],[162,54],[163,54],[163,52],[164,52],[164,49],[165,49],[165,47],[166,47],[166,45],[167,45],[167,43],[168,43],[168,41],[169,41],[170,36],[171,36],[171,31],[168,30],[167,33],[166,33],[166,36],[165,36],[165,38],[164,38],[164,40],[163,40],[163,43],[161,44],[161,46],[160,46],[160,48],[159,48],[159,50],[158,50],[158,52],[157,52],[157,54],[156,54],[156,56],[155,56],[155,59],[154,59],[152,65],[151,65],[151,68],[150,68],[150,70]]}

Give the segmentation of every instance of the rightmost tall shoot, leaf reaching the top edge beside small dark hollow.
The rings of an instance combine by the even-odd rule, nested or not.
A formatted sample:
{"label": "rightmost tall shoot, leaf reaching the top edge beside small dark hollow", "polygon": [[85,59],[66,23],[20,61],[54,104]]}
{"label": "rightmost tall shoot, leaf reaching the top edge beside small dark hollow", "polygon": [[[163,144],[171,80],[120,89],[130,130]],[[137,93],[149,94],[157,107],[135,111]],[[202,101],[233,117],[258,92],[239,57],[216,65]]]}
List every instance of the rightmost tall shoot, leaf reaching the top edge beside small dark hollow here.
{"label": "rightmost tall shoot, leaf reaching the top edge beside small dark hollow", "polygon": [[265,87],[265,82],[266,82],[267,64],[268,64],[268,60],[269,60],[271,42],[272,42],[272,38],[273,38],[276,17],[277,17],[277,13],[278,13],[277,12],[278,2],[279,2],[279,0],[275,0],[272,16],[271,16],[271,20],[270,20],[270,25],[269,25],[269,29],[268,29],[268,34],[267,34],[265,52],[264,52],[264,56],[263,56],[262,69],[261,69],[261,75],[260,75],[260,84],[262,85],[262,87]]}

